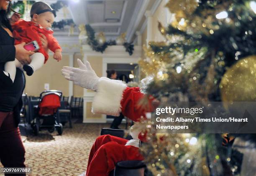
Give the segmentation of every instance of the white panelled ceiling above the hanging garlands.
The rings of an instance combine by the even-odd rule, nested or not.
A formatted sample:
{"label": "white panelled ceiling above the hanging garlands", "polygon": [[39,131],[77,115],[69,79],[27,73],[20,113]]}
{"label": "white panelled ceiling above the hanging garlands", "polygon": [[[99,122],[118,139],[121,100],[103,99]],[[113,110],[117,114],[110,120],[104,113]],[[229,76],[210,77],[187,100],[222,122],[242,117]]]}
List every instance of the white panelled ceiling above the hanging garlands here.
{"label": "white panelled ceiling above the hanging garlands", "polygon": [[[13,0],[17,1],[17,0]],[[36,0],[39,1],[39,0]],[[48,4],[57,0],[42,0]],[[63,0],[64,1],[64,0]],[[65,0],[67,1],[67,0]],[[104,32],[107,40],[116,39],[121,33],[127,33],[127,40],[133,41],[136,31],[145,20],[146,10],[156,6],[161,0],[68,0],[68,8],[57,12],[55,21],[73,19],[76,27],[74,34],[68,37],[69,26],[64,29],[54,29],[54,36],[63,43],[72,40],[78,42],[79,24],[90,24],[96,34]],[[61,43],[61,42],[60,42]]]}

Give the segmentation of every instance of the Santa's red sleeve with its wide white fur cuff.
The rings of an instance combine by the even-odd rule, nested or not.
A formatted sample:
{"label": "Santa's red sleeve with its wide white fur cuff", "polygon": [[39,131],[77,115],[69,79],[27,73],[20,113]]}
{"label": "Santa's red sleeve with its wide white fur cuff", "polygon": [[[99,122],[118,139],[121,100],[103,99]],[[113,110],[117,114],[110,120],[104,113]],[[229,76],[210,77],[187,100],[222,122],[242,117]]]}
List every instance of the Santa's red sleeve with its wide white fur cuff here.
{"label": "Santa's red sleeve with its wide white fur cuff", "polygon": [[148,105],[141,106],[140,101],[145,94],[139,87],[127,87],[118,80],[100,78],[97,93],[92,102],[92,112],[119,116],[120,112],[133,121],[138,121],[146,112],[153,110],[152,97],[148,98]]}

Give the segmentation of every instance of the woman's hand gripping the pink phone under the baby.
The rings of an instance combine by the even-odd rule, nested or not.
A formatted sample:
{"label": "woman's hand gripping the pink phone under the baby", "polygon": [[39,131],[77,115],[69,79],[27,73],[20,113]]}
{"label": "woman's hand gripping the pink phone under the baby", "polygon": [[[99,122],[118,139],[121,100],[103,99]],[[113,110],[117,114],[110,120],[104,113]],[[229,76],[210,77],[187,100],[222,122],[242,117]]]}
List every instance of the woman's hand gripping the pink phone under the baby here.
{"label": "woman's hand gripping the pink phone under the baby", "polygon": [[26,44],[25,42],[22,42],[18,45],[15,45],[15,49],[16,49],[15,58],[18,59],[18,61],[20,61],[20,63],[23,65],[30,64],[31,59],[29,56],[35,53],[33,51],[27,51],[24,48],[25,44]]}

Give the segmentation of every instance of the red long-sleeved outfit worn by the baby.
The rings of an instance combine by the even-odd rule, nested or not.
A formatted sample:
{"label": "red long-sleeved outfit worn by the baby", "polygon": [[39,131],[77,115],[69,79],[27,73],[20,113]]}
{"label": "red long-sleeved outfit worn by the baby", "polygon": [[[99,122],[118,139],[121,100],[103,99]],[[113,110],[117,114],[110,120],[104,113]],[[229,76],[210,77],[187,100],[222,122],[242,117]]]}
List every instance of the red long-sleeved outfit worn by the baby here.
{"label": "red long-sleeved outfit worn by the baby", "polygon": [[42,42],[40,40],[40,34],[42,33],[46,36],[48,42],[48,48],[55,52],[56,49],[61,49],[58,41],[53,36],[53,31],[51,29],[43,28],[41,25],[36,24],[32,21],[19,20],[12,26],[13,28],[13,37],[15,38],[15,45],[22,43],[29,43],[31,41],[37,41],[40,49],[37,51],[44,55],[44,63],[49,58],[47,51],[44,50]]}

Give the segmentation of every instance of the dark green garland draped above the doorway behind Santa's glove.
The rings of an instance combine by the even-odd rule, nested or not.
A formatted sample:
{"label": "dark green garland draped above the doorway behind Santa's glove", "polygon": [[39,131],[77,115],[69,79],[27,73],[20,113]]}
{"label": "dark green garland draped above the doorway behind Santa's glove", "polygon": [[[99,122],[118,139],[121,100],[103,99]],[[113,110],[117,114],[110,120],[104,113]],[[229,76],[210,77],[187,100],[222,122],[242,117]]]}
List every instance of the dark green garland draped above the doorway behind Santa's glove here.
{"label": "dark green garland draped above the doorway behind Santa's glove", "polygon": [[[88,36],[87,43],[92,47],[92,50],[103,53],[108,46],[116,45],[116,41],[112,40],[100,44],[95,38],[94,29],[89,24],[85,25],[85,28]],[[123,46],[125,47],[125,51],[131,56],[133,54],[134,45],[132,43],[125,42],[123,43]]]}

